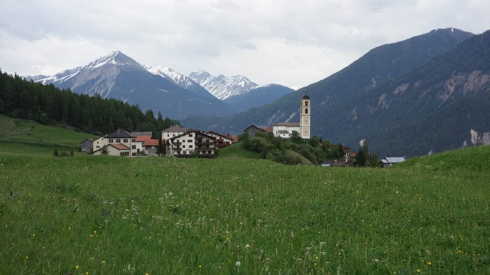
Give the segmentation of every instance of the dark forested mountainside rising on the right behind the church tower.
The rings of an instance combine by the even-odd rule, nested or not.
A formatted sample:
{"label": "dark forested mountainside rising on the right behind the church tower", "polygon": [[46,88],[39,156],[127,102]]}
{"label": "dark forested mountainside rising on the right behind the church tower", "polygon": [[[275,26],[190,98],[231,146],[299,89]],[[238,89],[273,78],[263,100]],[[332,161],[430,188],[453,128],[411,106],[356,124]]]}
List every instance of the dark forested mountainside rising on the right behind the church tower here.
{"label": "dark forested mountainside rising on the right behind the church tower", "polygon": [[[490,132],[489,36],[448,28],[381,45],[271,104],[218,125],[199,122],[206,129],[232,133],[251,124],[298,122],[306,91],[312,104],[311,133],[331,143],[356,149],[365,139],[380,156],[406,157],[476,144]],[[182,122],[192,127],[192,118]]]}

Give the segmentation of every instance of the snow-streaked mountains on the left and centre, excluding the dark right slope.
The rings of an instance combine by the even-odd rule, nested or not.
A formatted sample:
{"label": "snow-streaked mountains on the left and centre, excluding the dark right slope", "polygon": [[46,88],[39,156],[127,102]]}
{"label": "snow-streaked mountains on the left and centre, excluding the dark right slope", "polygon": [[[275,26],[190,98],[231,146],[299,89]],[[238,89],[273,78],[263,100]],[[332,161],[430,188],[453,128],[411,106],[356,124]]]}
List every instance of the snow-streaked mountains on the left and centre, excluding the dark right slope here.
{"label": "snow-streaked mountains on the left and centre, excluding the dark right slope", "polygon": [[[164,65],[152,67],[140,64],[120,51],[53,76],[24,78],[76,93],[119,99],[138,105],[142,110],[151,109],[174,119],[228,116],[272,102],[293,91],[281,85],[259,86],[243,76],[219,75],[215,78],[205,71],[193,72],[191,77],[186,77]],[[256,89],[259,91],[256,92]],[[232,99],[234,96],[240,99]]]}

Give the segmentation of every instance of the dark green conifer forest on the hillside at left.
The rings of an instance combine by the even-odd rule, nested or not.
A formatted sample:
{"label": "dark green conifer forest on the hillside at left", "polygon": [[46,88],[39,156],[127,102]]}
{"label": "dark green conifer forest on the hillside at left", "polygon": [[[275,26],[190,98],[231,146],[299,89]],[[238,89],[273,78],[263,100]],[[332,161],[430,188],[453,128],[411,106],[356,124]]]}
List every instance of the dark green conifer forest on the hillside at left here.
{"label": "dark green conifer forest on the hillside at left", "polygon": [[161,131],[179,121],[157,117],[152,110],[144,113],[139,107],[99,95],[77,94],[59,89],[52,84],[43,85],[26,81],[17,74],[0,70],[0,114],[31,119],[41,124],[62,126],[96,135],[115,129],[127,131]]}

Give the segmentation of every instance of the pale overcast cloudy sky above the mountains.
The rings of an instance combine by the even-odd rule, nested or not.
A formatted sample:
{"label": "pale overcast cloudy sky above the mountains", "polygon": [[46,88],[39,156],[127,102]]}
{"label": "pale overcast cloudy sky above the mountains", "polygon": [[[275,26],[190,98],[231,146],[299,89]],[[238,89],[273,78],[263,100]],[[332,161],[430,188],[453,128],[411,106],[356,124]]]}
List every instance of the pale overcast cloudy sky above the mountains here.
{"label": "pale overcast cloudy sky above the mountains", "polygon": [[488,0],[0,0],[0,69],[52,75],[121,51],[188,76],[303,87],[370,49],[490,29]]}

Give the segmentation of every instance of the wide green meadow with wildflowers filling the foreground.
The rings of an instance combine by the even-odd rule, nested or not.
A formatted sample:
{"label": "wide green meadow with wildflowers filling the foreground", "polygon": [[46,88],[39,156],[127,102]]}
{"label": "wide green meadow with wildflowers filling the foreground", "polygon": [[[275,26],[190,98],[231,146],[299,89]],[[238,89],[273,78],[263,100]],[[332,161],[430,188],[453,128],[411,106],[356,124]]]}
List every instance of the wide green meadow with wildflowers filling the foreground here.
{"label": "wide green meadow with wildflowers filling the foreground", "polygon": [[0,153],[0,274],[490,273],[489,146],[388,169],[234,151]]}

